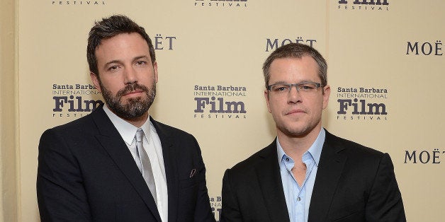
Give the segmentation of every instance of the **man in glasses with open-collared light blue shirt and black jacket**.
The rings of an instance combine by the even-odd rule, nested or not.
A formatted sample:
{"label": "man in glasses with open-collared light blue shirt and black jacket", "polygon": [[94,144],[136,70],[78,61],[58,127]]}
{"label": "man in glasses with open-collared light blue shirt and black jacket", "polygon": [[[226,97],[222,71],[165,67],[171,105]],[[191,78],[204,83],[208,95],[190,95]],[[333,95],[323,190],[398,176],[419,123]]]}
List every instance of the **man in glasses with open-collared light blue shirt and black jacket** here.
{"label": "man in glasses with open-collared light blue shirt and black jacket", "polygon": [[322,55],[284,45],[263,73],[276,139],[225,171],[221,221],[406,221],[388,153],[322,128],[330,94]]}

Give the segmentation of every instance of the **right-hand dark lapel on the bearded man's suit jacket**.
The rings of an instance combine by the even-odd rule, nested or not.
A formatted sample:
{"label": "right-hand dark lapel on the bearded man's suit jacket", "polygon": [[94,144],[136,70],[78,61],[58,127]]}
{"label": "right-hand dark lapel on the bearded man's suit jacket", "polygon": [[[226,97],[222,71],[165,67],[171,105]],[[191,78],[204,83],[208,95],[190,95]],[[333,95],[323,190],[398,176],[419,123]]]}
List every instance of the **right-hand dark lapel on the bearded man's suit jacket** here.
{"label": "right-hand dark lapel on the bearded man's suit jacket", "polygon": [[150,121],[153,123],[154,128],[159,136],[159,140],[162,145],[162,156],[164,157],[165,177],[167,179],[167,192],[169,197],[168,203],[168,215],[169,221],[176,221],[178,216],[177,200],[179,199],[179,181],[176,176],[177,164],[176,164],[176,152],[173,143],[173,137],[162,124],[154,121],[150,117]]}

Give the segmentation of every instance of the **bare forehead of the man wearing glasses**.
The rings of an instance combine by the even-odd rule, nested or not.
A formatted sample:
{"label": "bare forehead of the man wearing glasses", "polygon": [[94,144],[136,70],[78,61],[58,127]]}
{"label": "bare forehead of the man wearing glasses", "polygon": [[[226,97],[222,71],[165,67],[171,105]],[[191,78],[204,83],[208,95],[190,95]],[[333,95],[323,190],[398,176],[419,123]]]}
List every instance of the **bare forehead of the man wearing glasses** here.
{"label": "bare forehead of the man wearing glasses", "polygon": [[269,68],[269,83],[276,81],[320,81],[318,64],[310,56],[274,59]]}

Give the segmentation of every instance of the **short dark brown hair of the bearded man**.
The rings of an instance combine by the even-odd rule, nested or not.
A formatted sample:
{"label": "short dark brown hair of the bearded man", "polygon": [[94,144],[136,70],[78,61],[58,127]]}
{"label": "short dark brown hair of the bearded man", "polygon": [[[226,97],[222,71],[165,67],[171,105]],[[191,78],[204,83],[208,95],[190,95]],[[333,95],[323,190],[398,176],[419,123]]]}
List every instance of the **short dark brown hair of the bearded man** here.
{"label": "short dark brown hair of the bearded man", "polygon": [[152,64],[156,62],[152,40],[150,40],[150,37],[145,33],[145,29],[140,25],[137,25],[137,23],[127,16],[114,15],[108,18],[103,18],[102,21],[96,21],[93,28],[89,31],[86,59],[88,60],[89,70],[96,76],[98,76],[97,59],[95,54],[96,48],[98,45],[101,45],[102,40],[115,37],[122,33],[138,33],[141,35],[145,41],[147,41]]}

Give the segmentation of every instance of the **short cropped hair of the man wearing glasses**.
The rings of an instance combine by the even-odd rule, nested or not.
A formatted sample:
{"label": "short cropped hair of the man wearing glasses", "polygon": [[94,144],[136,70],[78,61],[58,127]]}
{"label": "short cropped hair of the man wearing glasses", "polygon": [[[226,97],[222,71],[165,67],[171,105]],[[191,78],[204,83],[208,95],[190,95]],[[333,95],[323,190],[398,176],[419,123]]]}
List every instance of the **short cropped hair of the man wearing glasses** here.
{"label": "short cropped hair of the man wearing glasses", "polygon": [[267,57],[266,61],[263,64],[263,74],[264,74],[264,83],[266,88],[269,84],[269,80],[271,78],[271,74],[269,73],[269,69],[271,68],[272,62],[275,59],[281,58],[298,58],[301,59],[303,56],[310,56],[315,60],[318,64],[318,76],[320,76],[322,86],[327,85],[327,63],[326,60],[322,57],[320,52],[316,49],[310,47],[309,45],[304,45],[300,43],[289,43],[288,45],[283,45],[278,47],[274,52],[272,52],[269,57]]}

